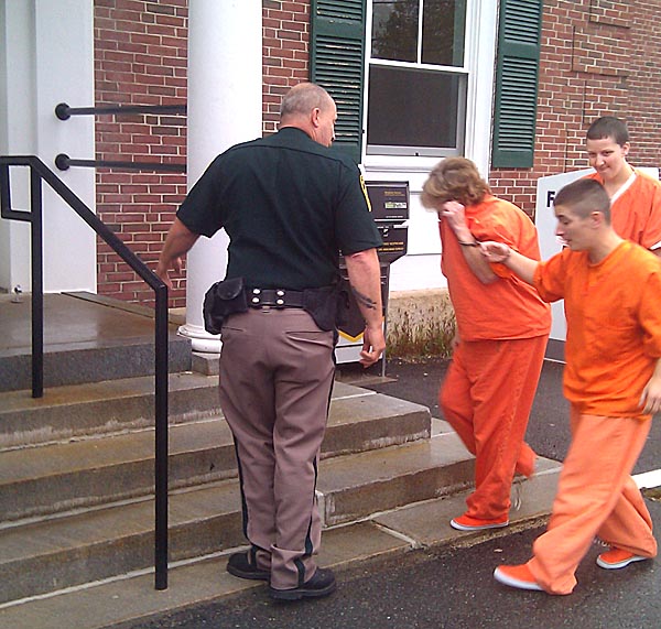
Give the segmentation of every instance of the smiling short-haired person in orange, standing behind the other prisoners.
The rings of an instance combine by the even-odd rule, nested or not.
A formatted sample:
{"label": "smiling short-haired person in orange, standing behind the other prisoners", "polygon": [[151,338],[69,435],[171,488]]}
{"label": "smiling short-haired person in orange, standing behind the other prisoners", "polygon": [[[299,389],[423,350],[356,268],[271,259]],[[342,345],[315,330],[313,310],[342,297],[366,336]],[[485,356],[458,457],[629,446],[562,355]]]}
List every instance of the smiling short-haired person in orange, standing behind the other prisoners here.
{"label": "smiling short-haired person in orange, standing behind the other prisoners", "polygon": [[624,120],[604,116],[587,130],[589,165],[610,197],[615,231],[661,256],[661,183],[627,162],[629,131]]}

